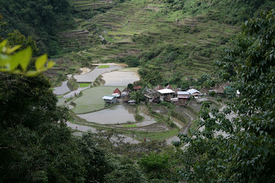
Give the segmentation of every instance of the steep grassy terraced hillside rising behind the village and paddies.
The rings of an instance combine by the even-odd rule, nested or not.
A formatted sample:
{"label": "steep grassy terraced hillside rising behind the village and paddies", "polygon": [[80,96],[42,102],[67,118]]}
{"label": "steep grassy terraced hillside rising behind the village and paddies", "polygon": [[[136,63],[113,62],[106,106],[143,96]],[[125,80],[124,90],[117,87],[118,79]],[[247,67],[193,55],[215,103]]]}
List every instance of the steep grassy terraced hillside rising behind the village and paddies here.
{"label": "steep grassy terraced hillside rising behind the village and paddies", "polygon": [[[89,66],[93,62],[126,62],[142,67],[142,77],[159,71],[163,84],[175,85],[186,77],[213,73],[212,61],[240,31],[248,8],[251,14],[259,13],[259,8],[244,1],[71,3],[79,12],[106,11],[98,11],[90,19],[74,19],[78,29],[60,34],[63,49],[74,51],[65,56],[65,60],[74,60],[74,64],[68,62],[71,71],[76,65]],[[272,4],[265,1],[261,7]]]}

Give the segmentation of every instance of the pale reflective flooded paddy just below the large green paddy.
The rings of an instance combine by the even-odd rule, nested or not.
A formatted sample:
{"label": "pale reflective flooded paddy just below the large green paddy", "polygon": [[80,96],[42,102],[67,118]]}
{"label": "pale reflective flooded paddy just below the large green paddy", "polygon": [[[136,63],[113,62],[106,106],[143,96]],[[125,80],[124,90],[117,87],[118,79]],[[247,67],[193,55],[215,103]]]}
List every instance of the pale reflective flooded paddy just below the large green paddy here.
{"label": "pale reflective flooded paddy just below the large green paddy", "polygon": [[99,124],[118,124],[135,121],[135,106],[113,106],[97,112],[78,114],[78,117]]}

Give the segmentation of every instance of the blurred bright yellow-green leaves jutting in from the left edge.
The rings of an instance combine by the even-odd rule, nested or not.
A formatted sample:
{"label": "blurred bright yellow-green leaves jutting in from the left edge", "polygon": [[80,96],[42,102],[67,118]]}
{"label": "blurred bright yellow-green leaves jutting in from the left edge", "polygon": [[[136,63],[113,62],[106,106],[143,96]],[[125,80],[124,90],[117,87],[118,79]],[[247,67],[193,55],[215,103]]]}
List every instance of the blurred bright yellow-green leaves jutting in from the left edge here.
{"label": "blurred bright yellow-green leaves jutting in from the left edge", "polygon": [[[25,76],[34,76],[38,75],[47,69],[54,66],[53,61],[47,62],[47,55],[44,54],[35,60],[35,70],[28,69],[32,59],[32,49],[28,47],[17,53],[21,46],[17,45],[12,48],[8,47],[8,40],[3,40],[0,43],[0,72],[3,73],[12,73],[12,74],[21,74]],[[45,64],[47,63],[47,66]]]}

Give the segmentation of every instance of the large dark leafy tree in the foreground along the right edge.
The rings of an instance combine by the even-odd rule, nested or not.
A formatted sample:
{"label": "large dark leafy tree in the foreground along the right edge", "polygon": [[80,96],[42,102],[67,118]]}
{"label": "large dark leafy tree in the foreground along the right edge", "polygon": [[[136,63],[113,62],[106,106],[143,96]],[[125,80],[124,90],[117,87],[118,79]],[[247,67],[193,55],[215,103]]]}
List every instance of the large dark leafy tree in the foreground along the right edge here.
{"label": "large dark leafy tree in the foreground along the right edge", "polygon": [[[232,40],[233,48],[216,62],[224,69],[221,77],[231,75],[226,90],[230,101],[223,113],[204,103],[199,128],[190,136],[180,135],[181,142],[189,143],[179,171],[186,180],[274,182],[274,23],[274,10],[246,21],[242,34]],[[234,74],[224,74],[232,70]]]}

